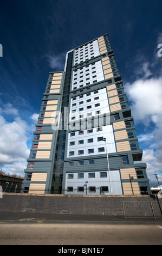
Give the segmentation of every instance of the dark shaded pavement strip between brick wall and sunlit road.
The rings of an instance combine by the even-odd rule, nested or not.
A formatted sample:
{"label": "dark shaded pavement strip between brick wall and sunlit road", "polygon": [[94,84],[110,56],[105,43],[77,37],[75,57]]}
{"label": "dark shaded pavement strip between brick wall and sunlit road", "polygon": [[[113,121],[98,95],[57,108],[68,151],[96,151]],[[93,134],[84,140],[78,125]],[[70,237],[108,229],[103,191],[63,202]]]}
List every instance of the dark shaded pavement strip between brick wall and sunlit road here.
{"label": "dark shaded pavement strip between brick wall and sunlit road", "polygon": [[162,218],[124,218],[124,216],[85,215],[85,214],[55,214],[51,212],[2,211],[0,223],[73,223],[73,224],[149,224],[162,225]]}

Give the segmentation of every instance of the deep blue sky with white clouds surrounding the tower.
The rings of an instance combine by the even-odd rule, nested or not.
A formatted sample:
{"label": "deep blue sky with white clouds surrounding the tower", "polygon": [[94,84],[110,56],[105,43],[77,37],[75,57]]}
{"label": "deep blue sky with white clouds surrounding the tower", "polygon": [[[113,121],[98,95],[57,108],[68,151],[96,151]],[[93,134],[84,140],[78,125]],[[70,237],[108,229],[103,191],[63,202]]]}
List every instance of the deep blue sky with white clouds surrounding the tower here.
{"label": "deep blue sky with white clouds surrounding the tower", "polygon": [[[151,185],[162,172],[161,0],[1,0],[0,167],[23,175],[49,71],[108,33]],[[162,184],[162,175],[159,180]]]}

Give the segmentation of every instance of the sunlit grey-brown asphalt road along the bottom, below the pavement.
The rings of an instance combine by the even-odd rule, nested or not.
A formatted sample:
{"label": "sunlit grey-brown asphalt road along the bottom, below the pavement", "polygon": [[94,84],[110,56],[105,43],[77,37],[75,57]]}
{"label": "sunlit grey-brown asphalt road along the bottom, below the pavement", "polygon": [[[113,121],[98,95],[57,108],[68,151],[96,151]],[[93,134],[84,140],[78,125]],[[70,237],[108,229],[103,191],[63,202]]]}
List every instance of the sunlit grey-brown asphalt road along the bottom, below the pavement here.
{"label": "sunlit grey-brown asphalt road along the bottom, below the pavement", "polygon": [[0,245],[162,245],[158,225],[1,223],[0,230]]}

